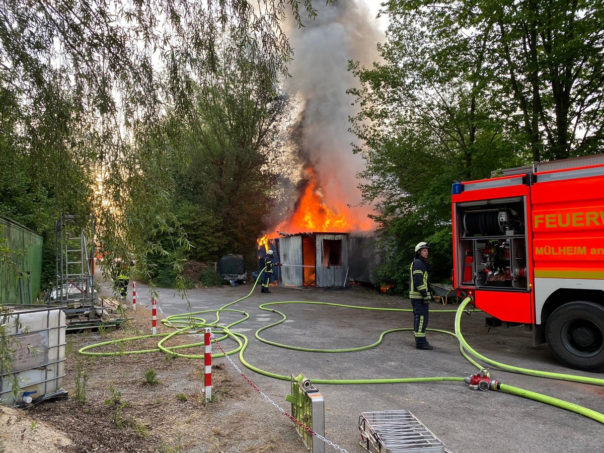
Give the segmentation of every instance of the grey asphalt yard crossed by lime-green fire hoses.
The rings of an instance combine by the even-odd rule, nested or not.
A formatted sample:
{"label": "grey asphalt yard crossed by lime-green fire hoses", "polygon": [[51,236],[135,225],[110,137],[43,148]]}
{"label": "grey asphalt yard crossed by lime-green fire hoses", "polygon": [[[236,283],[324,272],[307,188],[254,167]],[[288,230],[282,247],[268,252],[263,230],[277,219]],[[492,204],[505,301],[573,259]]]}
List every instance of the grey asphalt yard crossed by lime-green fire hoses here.
{"label": "grey asphalt yard crossed by lime-green fire hoses", "polygon": [[[200,310],[216,310],[245,298],[252,284],[236,288],[196,289],[188,298],[173,289],[158,289],[158,319]],[[434,350],[414,349],[413,332],[386,335],[381,344],[367,350],[347,353],[316,353],[283,349],[254,338],[258,329],[281,319],[275,312],[266,312],[260,304],[283,301],[316,301],[355,307],[410,309],[409,300],[352,289],[292,289],[271,288],[271,294],[260,294],[255,288],[249,297],[228,307],[249,313],[249,319],[232,328],[245,335],[249,344],[244,359],[254,367],[283,376],[304,374],[309,379],[389,379],[410,377],[464,377],[477,368],[464,358],[454,336],[428,332],[426,336]],[[150,304],[147,288],[137,284],[138,303]],[[344,349],[373,344],[382,332],[400,327],[412,327],[411,312],[367,310],[335,307],[323,304],[286,303],[272,306],[286,316],[278,326],[263,330],[259,335],[270,341],[312,349]],[[431,304],[429,329],[454,331],[457,309],[449,303]],[[215,315],[198,315],[214,321]],[[220,313],[222,326],[240,320],[242,315]],[[461,331],[477,352],[494,361],[515,367],[604,378],[603,373],[586,373],[565,368],[551,355],[547,345],[533,347],[532,333],[522,327],[491,329],[484,326],[484,314],[464,314]],[[225,350],[236,343],[224,340]],[[216,352],[214,347],[213,352]],[[260,390],[284,410],[291,405],[285,397],[291,392],[291,382],[264,376],[234,361]],[[214,363],[226,358],[216,358]],[[232,368],[232,367],[231,367]],[[233,368],[234,376],[237,371]],[[497,381],[525,390],[585,406],[604,413],[604,387],[556,381],[541,377],[509,373],[491,367],[490,376]],[[243,379],[243,377],[241,377]],[[397,384],[316,384],[325,402],[325,437],[349,453],[366,450],[359,445],[359,414],[371,411],[410,411],[423,423],[445,448],[453,453],[469,452],[531,452],[531,453],[602,453],[604,425],[596,420],[503,391],[471,390],[463,382],[411,382]],[[258,396],[258,405],[270,404]],[[275,417],[283,414],[274,410]],[[292,427],[292,429],[294,429]],[[330,445],[326,452],[338,451]],[[387,450],[382,450],[387,451]],[[428,450],[426,450],[428,451]]]}

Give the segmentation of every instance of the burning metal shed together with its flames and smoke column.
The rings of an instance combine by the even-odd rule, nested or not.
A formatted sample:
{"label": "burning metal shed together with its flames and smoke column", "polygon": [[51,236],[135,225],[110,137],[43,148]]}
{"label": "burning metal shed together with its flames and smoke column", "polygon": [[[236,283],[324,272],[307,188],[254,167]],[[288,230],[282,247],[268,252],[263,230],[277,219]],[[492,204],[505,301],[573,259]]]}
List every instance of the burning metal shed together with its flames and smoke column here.
{"label": "burning metal shed together with its flames and smoke column", "polygon": [[380,260],[366,233],[374,230],[368,217],[373,208],[361,205],[357,175],[365,161],[350,146],[356,139],[348,118],[356,112],[346,91],[356,83],[349,60],[375,61],[383,34],[360,0],[317,8],[306,27],[288,32],[295,48],[290,83],[300,115],[281,167],[295,173],[295,191],[289,192],[295,204],[275,210],[275,227],[259,240],[259,267],[270,248],[283,264],[275,268],[277,283],[325,288],[372,281]]}

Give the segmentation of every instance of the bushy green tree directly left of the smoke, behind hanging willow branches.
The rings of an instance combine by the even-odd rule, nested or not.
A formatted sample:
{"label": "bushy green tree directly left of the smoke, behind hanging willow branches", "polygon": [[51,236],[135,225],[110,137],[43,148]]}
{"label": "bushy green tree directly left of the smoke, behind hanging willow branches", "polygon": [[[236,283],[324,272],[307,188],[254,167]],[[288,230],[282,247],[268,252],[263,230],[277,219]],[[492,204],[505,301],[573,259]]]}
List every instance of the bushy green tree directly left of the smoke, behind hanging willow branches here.
{"label": "bushy green tree directly left of the smoke, behind hanging willow branches", "polygon": [[194,109],[180,120],[174,146],[186,150],[190,165],[177,178],[178,210],[191,257],[214,261],[239,252],[251,265],[271,208],[267,163],[280,152],[288,98],[265,53],[230,42],[217,53],[216,70],[200,76]]}

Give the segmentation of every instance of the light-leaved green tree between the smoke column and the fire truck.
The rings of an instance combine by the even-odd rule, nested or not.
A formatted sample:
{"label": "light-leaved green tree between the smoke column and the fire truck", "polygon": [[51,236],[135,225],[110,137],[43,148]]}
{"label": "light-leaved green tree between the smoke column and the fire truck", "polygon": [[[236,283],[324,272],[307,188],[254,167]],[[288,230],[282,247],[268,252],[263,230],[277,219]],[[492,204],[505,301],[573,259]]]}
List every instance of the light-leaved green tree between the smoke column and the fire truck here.
{"label": "light-leaved green tree between the smoke column and the fire truck", "polygon": [[[423,240],[438,263],[434,281],[449,278],[452,181],[513,166],[521,149],[515,129],[493,113],[505,100],[495,103],[482,82],[489,71],[484,42],[457,39],[454,28],[431,34],[431,20],[393,21],[379,46],[383,62],[350,63],[361,82],[350,92],[361,107],[352,130],[361,139],[355,152],[367,161],[362,194],[376,204],[374,219],[386,233],[382,275],[399,284],[408,281],[414,246]],[[440,53],[444,45],[455,52]]]}

